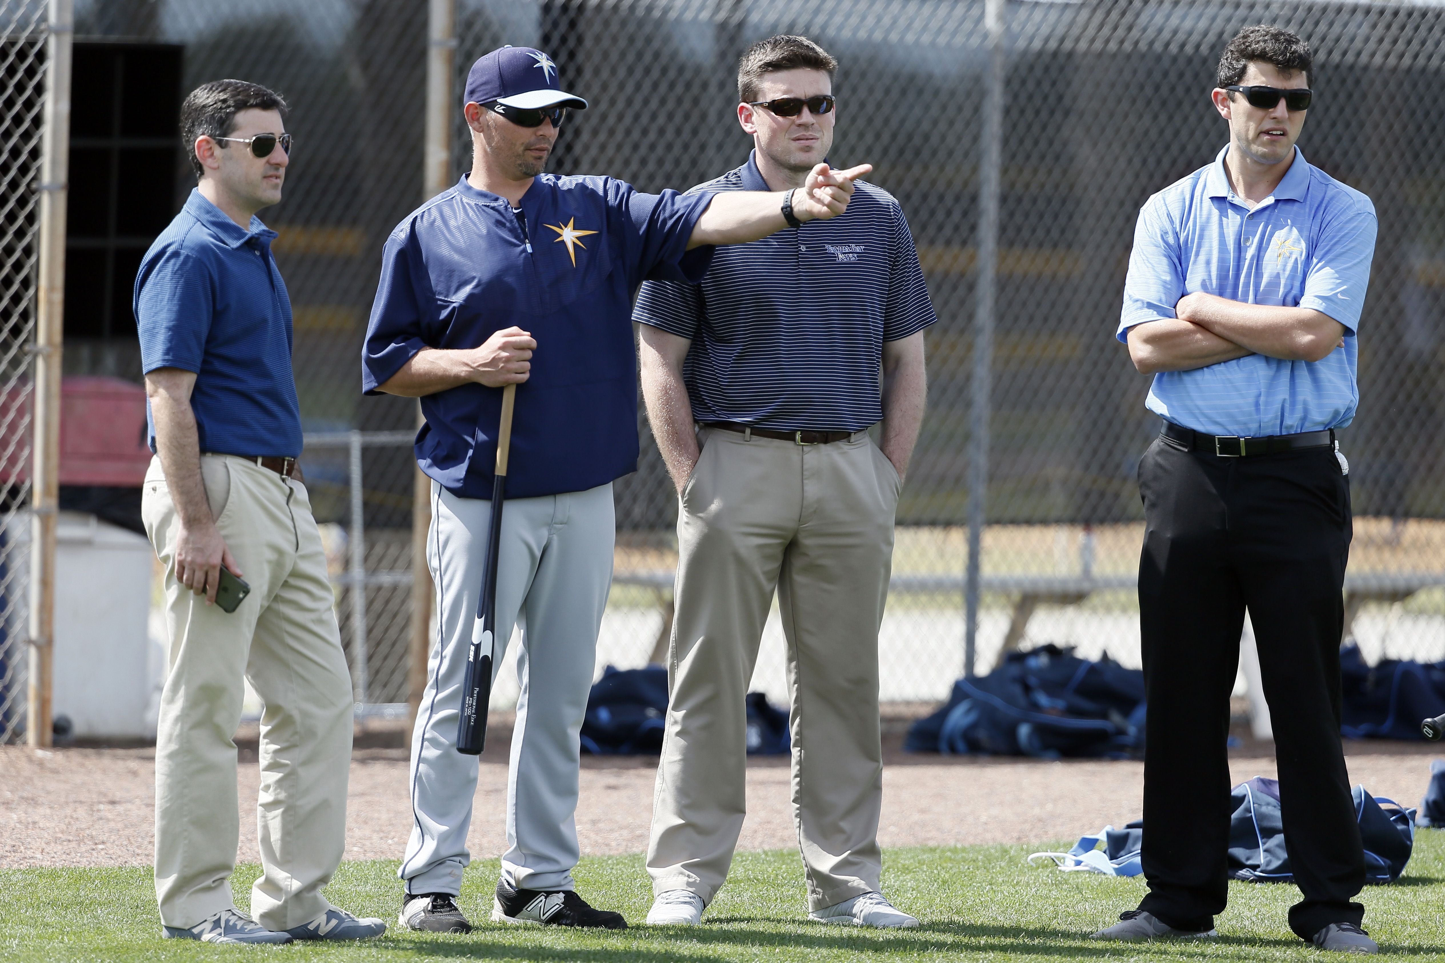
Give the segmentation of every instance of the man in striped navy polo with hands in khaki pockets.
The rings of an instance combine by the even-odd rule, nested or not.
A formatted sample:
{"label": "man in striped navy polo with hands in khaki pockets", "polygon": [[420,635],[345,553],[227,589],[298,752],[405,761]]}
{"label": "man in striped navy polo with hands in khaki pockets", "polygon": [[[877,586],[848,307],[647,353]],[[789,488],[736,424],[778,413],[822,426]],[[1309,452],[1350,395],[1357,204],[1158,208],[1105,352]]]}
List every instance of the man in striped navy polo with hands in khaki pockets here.
{"label": "man in striped navy polo with hands in khaki pockets", "polygon": [[[835,68],[806,38],[750,48],[737,111],[753,156],[692,193],[801,186],[832,143]],[[701,283],[643,284],[633,315],[647,414],[681,498],[652,924],[699,923],[727,876],[743,826],[744,696],[776,589],[808,908],[828,923],[918,925],[879,892],[879,625],[936,318],[887,192],[857,182],[844,215],[790,224],[720,247]],[[867,435],[880,419],[881,450]]]}

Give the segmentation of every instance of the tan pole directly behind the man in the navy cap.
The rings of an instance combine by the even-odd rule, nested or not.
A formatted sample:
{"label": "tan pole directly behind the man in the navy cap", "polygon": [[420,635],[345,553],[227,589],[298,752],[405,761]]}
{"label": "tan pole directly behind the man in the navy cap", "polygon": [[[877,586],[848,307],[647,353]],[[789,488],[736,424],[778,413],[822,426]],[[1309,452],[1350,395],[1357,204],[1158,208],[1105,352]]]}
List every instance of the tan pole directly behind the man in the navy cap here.
{"label": "tan pole directly behind the man in the navy cap", "polygon": [[[422,159],[423,198],[451,186],[452,71],[457,58],[457,0],[431,0],[426,39],[426,146]],[[420,407],[416,423],[423,422]],[[406,673],[412,725],[426,687],[426,657],[431,651],[432,576],[426,565],[426,531],[432,524],[432,481],[416,469],[412,485],[412,645]]]}

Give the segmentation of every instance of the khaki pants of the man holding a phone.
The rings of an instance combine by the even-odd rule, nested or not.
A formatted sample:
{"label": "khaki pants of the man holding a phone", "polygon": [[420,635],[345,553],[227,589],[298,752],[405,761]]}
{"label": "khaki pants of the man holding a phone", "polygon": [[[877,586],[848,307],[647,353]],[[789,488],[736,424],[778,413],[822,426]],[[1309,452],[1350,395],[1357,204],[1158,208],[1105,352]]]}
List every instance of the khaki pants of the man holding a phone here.
{"label": "khaki pants of the man holding a phone", "polygon": [[201,458],[221,537],[251,593],[233,614],[176,582],[178,518],[160,459],[142,511],[166,566],[171,664],[156,735],[160,921],[192,927],[234,907],[240,837],[236,744],[243,679],[264,703],[256,807],[263,875],[251,914],[269,930],[311,923],[345,850],[351,681],[306,488],[244,458]]}

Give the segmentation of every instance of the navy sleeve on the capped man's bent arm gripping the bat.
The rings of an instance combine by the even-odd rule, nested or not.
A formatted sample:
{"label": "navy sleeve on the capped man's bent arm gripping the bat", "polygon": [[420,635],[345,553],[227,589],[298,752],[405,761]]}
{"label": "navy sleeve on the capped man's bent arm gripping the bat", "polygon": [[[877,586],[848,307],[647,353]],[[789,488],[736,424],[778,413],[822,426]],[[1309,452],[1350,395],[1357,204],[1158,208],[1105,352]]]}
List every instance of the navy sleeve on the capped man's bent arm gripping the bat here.
{"label": "navy sleeve on the capped man's bent arm gripping the bat", "polygon": [[436,313],[416,234],[393,231],[381,248],[381,280],[361,342],[361,391],[379,394],[416,352],[426,347],[425,325]]}

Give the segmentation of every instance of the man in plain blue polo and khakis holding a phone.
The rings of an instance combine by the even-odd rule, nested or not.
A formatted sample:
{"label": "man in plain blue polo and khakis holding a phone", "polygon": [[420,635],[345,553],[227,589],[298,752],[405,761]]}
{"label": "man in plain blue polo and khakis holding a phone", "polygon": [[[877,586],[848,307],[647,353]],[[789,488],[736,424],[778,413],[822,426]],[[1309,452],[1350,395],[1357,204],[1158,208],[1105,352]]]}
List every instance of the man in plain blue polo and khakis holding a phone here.
{"label": "man in plain blue polo and khakis holding a phone", "polygon": [[[321,895],[345,853],[353,707],[327,554],[296,468],[290,302],[272,260],[276,232],[256,217],[280,201],[285,110],[243,81],[186,97],[182,143],[198,183],[136,276],[156,452],[142,515],[166,567],[171,635],[156,732],[156,898],[166,937],[207,943],[386,930]],[[240,605],[227,602],[234,611],[217,603],[223,567],[250,585]],[[263,703],[254,921],[231,897],[231,736],[246,680]]]}

